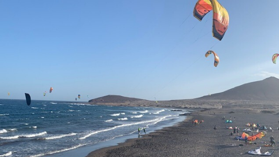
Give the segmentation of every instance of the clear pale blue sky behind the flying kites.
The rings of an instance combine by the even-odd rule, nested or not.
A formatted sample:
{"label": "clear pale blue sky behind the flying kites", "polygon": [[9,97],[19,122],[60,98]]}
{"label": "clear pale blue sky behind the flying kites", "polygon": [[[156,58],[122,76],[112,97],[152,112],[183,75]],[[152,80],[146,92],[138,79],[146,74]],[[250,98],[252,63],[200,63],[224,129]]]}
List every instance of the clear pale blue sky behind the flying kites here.
{"label": "clear pale blue sky behind the flying kites", "polygon": [[193,99],[279,78],[279,0],[218,0],[230,16],[221,41],[196,1],[1,0],[0,99]]}

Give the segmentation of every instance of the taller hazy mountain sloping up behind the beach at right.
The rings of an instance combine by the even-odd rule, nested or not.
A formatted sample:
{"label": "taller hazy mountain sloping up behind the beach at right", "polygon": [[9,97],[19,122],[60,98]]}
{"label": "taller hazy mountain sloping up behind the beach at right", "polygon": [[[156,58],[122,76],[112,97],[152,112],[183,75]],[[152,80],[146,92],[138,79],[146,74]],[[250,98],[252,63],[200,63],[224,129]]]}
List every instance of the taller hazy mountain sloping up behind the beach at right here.
{"label": "taller hazy mountain sloping up behind the beach at right", "polygon": [[196,99],[279,101],[279,79],[276,77],[269,77],[262,81],[246,83],[222,93]]}

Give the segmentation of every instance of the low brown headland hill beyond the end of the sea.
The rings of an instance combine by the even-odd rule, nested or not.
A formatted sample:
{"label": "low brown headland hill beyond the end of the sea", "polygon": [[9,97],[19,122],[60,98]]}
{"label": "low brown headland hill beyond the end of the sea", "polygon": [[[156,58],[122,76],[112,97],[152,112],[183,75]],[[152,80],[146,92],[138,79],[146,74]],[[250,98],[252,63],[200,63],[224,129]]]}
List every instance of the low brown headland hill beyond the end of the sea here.
{"label": "low brown headland hill beyond the end of the sea", "polygon": [[137,98],[128,98],[128,97],[123,97],[119,95],[107,95],[104,97],[96,98],[89,100],[89,103],[133,103],[137,101],[147,101],[143,99],[137,99]]}

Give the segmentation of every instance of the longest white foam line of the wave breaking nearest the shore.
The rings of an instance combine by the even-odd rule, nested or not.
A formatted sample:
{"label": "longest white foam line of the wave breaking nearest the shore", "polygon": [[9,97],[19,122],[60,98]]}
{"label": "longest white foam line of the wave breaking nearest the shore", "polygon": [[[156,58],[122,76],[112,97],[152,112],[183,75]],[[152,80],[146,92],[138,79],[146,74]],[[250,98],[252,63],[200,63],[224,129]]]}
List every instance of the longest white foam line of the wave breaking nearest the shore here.
{"label": "longest white foam line of the wave breaking nearest the shore", "polygon": [[120,126],[115,126],[115,127],[112,127],[112,128],[108,128],[108,129],[104,129],[104,130],[99,130],[99,131],[94,131],[94,132],[89,132],[89,134],[87,134],[86,136],[84,137],[81,137],[79,139],[86,139],[94,134],[98,134],[98,133],[102,133],[102,132],[107,132],[107,131],[110,131],[110,130],[114,130],[114,129],[117,129],[117,128],[122,128],[122,127],[126,127],[126,126],[133,126],[133,125],[139,125],[139,124],[143,124],[143,123],[151,123],[153,122],[153,124],[156,124],[160,121],[163,121],[164,119],[166,119],[167,117],[172,117],[171,115],[168,115],[168,116],[164,116],[164,117],[161,117],[161,118],[156,118],[156,119],[153,119],[153,120],[149,120],[149,121],[141,121],[141,122],[136,122],[136,123],[130,123],[130,124],[123,124],[123,125],[120,125]]}

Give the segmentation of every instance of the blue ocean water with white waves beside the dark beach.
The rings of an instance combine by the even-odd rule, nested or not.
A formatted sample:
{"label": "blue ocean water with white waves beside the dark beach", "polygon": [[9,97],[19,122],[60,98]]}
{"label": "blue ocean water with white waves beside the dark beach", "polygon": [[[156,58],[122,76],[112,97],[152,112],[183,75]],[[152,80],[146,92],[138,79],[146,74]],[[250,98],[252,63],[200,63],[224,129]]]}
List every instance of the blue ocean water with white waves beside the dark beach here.
{"label": "blue ocean water with white waves beside the dark beach", "polygon": [[[171,109],[0,99],[0,157],[41,157],[181,119]],[[141,131],[142,132],[142,131]],[[143,133],[143,132],[142,132]]]}

